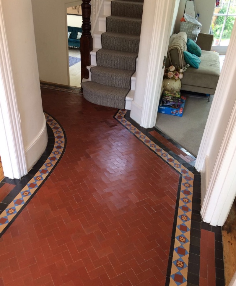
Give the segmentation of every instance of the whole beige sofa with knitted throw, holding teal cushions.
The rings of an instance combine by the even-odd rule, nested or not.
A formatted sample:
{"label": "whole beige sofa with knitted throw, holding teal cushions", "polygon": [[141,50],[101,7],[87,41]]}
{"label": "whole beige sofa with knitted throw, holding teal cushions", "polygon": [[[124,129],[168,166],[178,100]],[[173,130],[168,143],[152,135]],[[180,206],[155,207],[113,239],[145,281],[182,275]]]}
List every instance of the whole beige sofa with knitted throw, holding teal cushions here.
{"label": "whole beige sofa with knitted throw, holding teal cushions", "polygon": [[[199,33],[197,45],[201,48],[201,63],[199,68],[188,67],[181,79],[181,90],[197,93],[214,94],[220,75],[219,54],[211,51],[213,35]],[[180,47],[179,49],[175,47]],[[166,67],[170,65],[181,67],[185,63],[183,51],[187,51],[187,34],[180,32],[172,35],[169,42]]]}

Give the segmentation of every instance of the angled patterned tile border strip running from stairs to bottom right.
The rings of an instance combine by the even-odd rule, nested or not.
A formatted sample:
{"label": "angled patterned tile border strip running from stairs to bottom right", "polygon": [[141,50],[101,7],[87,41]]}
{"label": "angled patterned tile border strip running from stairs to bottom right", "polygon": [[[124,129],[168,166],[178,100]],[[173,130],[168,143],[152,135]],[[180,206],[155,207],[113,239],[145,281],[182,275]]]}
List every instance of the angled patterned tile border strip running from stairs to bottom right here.
{"label": "angled patterned tile border strip running from stairs to bottom right", "polygon": [[188,276],[194,174],[165,150],[157,146],[157,144],[150,140],[150,138],[142,133],[137,127],[132,125],[124,117],[126,112],[126,110],[119,110],[115,115],[115,119],[117,119],[139,140],[146,144],[147,147],[153,150],[160,158],[166,161],[167,164],[173,167],[181,176],[182,181],[169,285],[186,286]]}

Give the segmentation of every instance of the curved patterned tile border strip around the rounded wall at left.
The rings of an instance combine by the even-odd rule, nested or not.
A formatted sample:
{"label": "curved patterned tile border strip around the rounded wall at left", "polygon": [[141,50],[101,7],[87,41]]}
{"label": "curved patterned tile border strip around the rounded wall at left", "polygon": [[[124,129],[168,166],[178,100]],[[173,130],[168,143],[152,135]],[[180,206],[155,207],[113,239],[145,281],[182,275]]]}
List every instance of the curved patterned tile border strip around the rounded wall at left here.
{"label": "curved patterned tile border strip around the rounded wall at left", "polygon": [[[39,170],[27,182],[22,190],[13,198],[6,209],[0,214],[0,236],[12,224],[14,219],[19,215],[22,209],[29,203],[33,195],[40,189],[41,185],[45,182],[53,169],[60,161],[64,154],[66,147],[66,135],[60,124],[47,113],[45,114],[46,123],[51,127],[54,134],[54,147],[48,159],[44,160],[43,165],[38,168]],[[37,164],[37,163],[36,163]]]}

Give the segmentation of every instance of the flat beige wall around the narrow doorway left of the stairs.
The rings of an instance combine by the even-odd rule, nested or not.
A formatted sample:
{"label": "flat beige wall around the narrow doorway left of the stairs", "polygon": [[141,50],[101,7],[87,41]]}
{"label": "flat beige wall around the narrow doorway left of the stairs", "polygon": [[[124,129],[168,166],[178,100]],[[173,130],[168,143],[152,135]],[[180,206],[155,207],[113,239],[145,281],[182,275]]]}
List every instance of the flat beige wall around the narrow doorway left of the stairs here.
{"label": "flat beige wall around the narrow doorway left of the stairs", "polygon": [[69,85],[66,8],[81,2],[32,0],[40,80]]}

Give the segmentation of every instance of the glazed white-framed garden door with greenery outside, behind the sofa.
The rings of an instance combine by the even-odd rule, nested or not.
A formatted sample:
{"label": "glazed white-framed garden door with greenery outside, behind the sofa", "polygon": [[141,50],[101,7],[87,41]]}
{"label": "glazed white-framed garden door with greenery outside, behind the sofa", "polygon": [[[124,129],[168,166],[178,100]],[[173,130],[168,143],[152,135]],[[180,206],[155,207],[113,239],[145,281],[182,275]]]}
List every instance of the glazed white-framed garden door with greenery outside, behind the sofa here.
{"label": "glazed white-framed garden door with greenery outside, behind the sofa", "polygon": [[225,55],[236,17],[236,0],[221,0],[215,6],[210,32],[214,35],[213,49]]}

